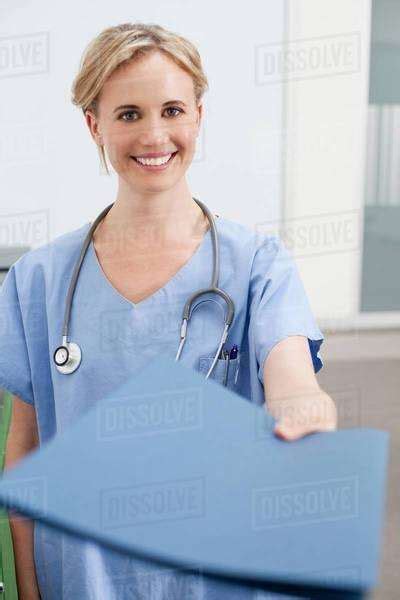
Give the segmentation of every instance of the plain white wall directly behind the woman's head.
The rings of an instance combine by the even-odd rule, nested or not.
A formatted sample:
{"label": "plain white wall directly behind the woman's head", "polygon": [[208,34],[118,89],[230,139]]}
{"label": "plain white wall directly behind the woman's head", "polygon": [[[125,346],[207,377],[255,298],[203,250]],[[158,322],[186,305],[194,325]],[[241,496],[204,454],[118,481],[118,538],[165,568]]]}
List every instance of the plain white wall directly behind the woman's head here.
{"label": "plain white wall directly behind the woman's head", "polygon": [[[81,54],[102,29],[164,25],[198,47],[209,78],[188,178],[215,212],[254,226],[276,219],[281,194],[282,86],[257,77],[257,48],[281,42],[283,3],[167,0],[0,6],[0,246],[41,245],[115,200],[83,115],[70,102]],[[271,141],[272,140],[272,141]]]}

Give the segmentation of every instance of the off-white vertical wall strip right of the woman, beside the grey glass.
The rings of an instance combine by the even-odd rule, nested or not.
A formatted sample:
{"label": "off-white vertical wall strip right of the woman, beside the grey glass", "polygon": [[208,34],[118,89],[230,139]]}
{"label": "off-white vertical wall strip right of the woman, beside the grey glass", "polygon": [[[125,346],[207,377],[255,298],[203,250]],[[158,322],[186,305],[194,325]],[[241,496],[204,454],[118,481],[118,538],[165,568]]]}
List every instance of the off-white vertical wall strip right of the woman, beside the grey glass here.
{"label": "off-white vertical wall strip right of the woman, beside the grey glass", "polygon": [[370,0],[289,0],[287,8],[295,59],[283,71],[285,227],[320,325],[351,328],[359,326]]}

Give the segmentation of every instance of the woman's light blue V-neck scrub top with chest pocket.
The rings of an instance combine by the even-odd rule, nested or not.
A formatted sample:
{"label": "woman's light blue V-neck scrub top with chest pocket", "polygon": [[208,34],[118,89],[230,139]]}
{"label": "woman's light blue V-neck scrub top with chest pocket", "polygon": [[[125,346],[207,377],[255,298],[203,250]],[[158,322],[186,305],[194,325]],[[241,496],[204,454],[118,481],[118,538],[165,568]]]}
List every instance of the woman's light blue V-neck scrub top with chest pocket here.
{"label": "woman's light blue V-neck scrub top with chest pocket", "polygon": [[[35,407],[40,444],[68,429],[148,361],[160,354],[175,358],[185,302],[210,285],[210,229],[166,285],[138,303],[124,298],[106,278],[92,242],[78,278],[69,330],[69,339],[81,347],[82,363],[75,373],[60,374],[53,353],[62,342],[68,285],[90,225],[22,256],[0,288],[0,387]],[[290,335],[306,336],[318,372],[323,366],[319,348],[324,336],[296,263],[281,238],[260,236],[223,217],[216,219],[216,226],[219,287],[235,303],[225,347],[236,344],[239,348],[238,357],[230,363],[228,387],[246,400],[262,404],[263,367],[273,346]],[[196,300],[182,364],[207,373],[222,334],[224,314],[225,303],[219,296]],[[224,361],[220,360],[211,377],[222,383],[223,375]],[[123,557],[39,523],[35,523],[35,564],[43,600],[224,597],[223,585],[211,584],[200,575],[183,575]],[[171,596],[173,589],[175,596]],[[238,593],[238,598],[244,597],[243,592]],[[231,589],[227,597],[234,597]]]}

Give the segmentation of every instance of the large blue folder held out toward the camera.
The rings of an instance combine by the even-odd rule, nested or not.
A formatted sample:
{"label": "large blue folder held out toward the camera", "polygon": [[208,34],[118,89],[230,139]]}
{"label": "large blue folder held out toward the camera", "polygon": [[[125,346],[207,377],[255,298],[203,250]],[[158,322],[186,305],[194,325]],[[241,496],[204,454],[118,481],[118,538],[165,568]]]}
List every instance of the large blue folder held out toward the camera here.
{"label": "large blue folder held out toward the camera", "polygon": [[0,505],[157,564],[308,598],[377,584],[388,434],[309,434],[161,358],[0,481]]}

